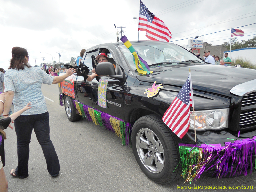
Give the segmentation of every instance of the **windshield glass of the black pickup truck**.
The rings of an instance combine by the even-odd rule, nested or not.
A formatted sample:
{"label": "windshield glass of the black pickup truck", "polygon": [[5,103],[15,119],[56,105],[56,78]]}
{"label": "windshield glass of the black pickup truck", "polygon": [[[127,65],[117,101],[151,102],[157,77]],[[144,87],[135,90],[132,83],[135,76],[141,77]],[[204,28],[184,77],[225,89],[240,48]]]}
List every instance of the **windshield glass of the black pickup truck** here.
{"label": "windshield glass of the black pickup truck", "polygon": [[[165,42],[135,42],[132,43],[133,48],[138,52],[140,57],[147,61],[149,67],[155,67],[155,64],[160,65],[181,65],[185,61],[199,61],[203,63],[196,55],[189,52],[182,47]],[[126,60],[129,62],[132,69],[136,70],[132,53],[126,48],[124,44],[119,45],[120,50],[123,52]]]}

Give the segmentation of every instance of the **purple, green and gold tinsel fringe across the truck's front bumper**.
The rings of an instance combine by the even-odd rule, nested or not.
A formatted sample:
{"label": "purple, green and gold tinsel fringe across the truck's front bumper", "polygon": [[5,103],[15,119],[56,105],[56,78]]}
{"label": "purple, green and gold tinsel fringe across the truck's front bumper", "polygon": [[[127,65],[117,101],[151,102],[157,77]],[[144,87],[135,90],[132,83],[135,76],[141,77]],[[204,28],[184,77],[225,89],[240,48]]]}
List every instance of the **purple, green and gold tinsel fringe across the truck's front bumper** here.
{"label": "purple, green and gold tinsel fringe across the truck's front bumper", "polygon": [[208,176],[238,177],[255,171],[256,136],[252,139],[235,140],[211,145],[179,144],[183,178],[196,181],[204,172]]}

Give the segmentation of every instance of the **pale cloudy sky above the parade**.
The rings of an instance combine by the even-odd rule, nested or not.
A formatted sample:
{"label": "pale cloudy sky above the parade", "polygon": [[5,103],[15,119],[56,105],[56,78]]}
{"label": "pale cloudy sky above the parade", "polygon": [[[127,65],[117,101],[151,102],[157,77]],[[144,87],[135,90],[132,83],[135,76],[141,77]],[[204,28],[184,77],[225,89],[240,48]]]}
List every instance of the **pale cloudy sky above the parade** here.
{"label": "pale cloudy sky above the parade", "polygon": [[[201,36],[219,45],[228,41],[230,30],[240,28],[248,40],[256,36],[256,2],[251,0],[142,0],[172,33],[171,41]],[[7,70],[12,47],[24,47],[31,65],[52,59],[61,62],[77,57],[81,49],[116,41],[116,28],[138,39],[139,0],[0,0],[0,67]],[[253,25],[250,25],[253,24]],[[248,25],[245,27],[240,27]],[[120,31],[120,28],[117,28]],[[214,33],[218,32],[218,33]],[[205,35],[213,33],[210,35]],[[203,36],[205,35],[205,36]],[[121,37],[121,34],[119,35]],[[139,40],[148,40],[140,31]],[[175,41],[181,46],[188,40]],[[40,53],[42,52],[42,53]],[[52,55],[52,56],[51,56]]]}

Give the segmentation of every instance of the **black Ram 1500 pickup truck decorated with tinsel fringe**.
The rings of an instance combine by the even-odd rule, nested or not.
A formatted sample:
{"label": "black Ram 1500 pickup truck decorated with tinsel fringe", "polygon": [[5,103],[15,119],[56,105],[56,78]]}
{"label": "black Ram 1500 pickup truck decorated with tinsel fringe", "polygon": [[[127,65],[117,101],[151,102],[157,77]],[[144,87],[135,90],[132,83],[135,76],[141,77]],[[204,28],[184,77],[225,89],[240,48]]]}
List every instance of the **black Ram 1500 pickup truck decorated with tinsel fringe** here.
{"label": "black Ram 1500 pickup truck decorated with tinsel fringe", "polygon": [[[252,172],[256,150],[256,70],[211,65],[172,43],[131,44],[153,73],[138,73],[133,55],[121,42],[87,49],[81,62],[90,70],[92,55],[105,53],[108,62],[97,65],[98,76],[91,82],[80,71],[80,76],[73,75],[59,85],[60,103],[64,103],[68,119],[77,121],[83,116],[116,132],[124,145],[133,148],[142,171],[158,183],[172,182],[181,175],[191,181],[202,173],[221,178]],[[189,69],[195,115],[192,110],[190,128],[180,139],[162,117],[187,80]],[[148,97],[145,90],[154,83],[163,87]],[[104,85],[105,100],[103,97],[101,102]],[[247,144],[250,149],[244,147]],[[191,160],[197,155],[200,160]]]}

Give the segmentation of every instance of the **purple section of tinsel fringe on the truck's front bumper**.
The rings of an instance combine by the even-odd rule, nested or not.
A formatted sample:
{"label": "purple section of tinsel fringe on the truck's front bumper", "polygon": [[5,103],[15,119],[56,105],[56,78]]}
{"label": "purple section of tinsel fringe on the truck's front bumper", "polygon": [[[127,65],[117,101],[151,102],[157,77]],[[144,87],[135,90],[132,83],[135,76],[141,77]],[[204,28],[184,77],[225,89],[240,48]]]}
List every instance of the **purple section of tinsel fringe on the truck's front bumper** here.
{"label": "purple section of tinsel fringe on the truck's front bumper", "polygon": [[201,146],[179,145],[202,148],[204,161],[192,165],[193,167],[200,167],[194,180],[200,178],[203,172],[212,174],[212,177],[217,178],[226,177],[227,175],[229,177],[238,177],[239,175],[247,175],[248,170],[252,173],[255,169],[255,139],[256,136],[252,139],[247,138],[235,140],[234,142],[225,142],[225,146],[221,146],[221,144],[204,144]]}

